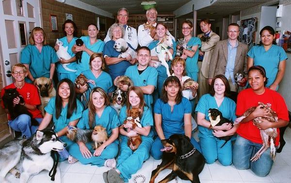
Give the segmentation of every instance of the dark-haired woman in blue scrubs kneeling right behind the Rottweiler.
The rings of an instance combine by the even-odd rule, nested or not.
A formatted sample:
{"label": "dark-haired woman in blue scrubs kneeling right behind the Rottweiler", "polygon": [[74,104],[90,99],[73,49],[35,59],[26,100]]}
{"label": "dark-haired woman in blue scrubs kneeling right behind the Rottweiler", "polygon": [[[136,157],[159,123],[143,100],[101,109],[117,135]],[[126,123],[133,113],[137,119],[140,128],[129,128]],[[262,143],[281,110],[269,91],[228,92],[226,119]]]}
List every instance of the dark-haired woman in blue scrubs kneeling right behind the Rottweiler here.
{"label": "dark-haired woman in blue scrubs kneeling right behind the Rottweiler", "polygon": [[192,136],[191,113],[192,107],[188,99],[182,96],[180,80],[169,76],[162,88],[162,97],[154,107],[155,128],[157,137],[150,150],[154,159],[161,159],[163,147],[161,140],[173,134],[184,134],[191,139],[194,147],[201,152],[199,144]]}

